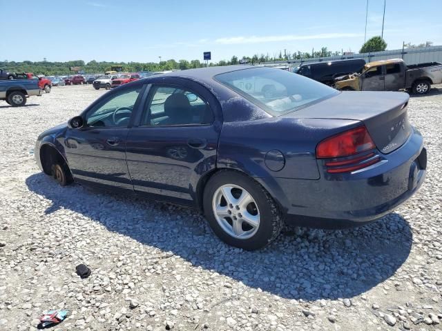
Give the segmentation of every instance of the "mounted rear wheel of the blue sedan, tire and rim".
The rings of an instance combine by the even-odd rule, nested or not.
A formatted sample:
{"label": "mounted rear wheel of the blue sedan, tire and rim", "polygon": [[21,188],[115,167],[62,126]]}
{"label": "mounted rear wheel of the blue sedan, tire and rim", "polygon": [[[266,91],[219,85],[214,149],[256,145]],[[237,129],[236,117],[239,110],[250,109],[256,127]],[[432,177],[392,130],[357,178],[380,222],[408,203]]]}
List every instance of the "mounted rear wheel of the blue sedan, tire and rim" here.
{"label": "mounted rear wheel of the blue sedan, tire and rim", "polygon": [[265,247],[282,228],[276,202],[259,183],[240,172],[214,174],[204,188],[203,206],[213,232],[224,243],[244,250]]}

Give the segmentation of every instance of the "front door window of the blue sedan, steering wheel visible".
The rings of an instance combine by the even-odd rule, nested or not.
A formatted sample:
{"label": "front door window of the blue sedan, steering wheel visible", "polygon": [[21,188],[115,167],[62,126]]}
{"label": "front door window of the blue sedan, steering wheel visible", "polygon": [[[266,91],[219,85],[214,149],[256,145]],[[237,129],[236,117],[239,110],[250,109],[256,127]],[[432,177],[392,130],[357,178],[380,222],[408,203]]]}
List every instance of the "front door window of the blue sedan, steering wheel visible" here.
{"label": "front door window of the blue sedan, steering wheel visible", "polygon": [[124,89],[109,99],[95,105],[86,113],[86,126],[104,128],[126,128],[141,87]]}

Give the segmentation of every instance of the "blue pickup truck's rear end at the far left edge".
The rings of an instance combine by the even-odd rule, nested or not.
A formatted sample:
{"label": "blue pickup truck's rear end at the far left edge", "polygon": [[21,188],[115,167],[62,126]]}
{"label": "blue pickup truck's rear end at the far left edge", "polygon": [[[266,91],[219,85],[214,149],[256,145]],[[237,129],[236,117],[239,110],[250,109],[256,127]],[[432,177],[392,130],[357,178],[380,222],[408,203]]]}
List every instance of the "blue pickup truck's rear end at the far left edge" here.
{"label": "blue pickup truck's rear end at the far left edge", "polygon": [[26,98],[41,95],[37,79],[6,79],[0,81],[0,100],[5,100],[12,107],[24,106]]}

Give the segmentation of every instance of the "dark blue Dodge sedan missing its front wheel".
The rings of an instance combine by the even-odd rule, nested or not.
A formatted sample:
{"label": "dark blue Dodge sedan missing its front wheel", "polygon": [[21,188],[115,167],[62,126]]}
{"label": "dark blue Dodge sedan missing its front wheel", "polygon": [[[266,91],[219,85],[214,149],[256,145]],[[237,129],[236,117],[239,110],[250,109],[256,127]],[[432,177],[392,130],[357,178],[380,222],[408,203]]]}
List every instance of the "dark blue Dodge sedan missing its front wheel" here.
{"label": "dark blue Dodge sedan missing its front wheel", "polygon": [[200,208],[247,250],[283,222],[362,225],[425,177],[401,92],[338,92],[274,68],[171,72],[116,88],[41,134],[35,158],[61,185]]}

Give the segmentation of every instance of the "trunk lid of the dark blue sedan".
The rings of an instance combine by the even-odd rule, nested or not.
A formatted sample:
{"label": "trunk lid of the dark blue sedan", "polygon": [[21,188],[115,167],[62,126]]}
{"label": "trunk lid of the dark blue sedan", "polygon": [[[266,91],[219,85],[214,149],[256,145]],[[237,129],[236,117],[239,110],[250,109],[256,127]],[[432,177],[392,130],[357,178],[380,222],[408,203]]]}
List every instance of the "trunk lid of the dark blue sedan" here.
{"label": "trunk lid of the dark blue sedan", "polygon": [[387,154],[401,147],[411,134],[407,120],[409,98],[403,92],[341,92],[284,117],[361,121],[378,150]]}

